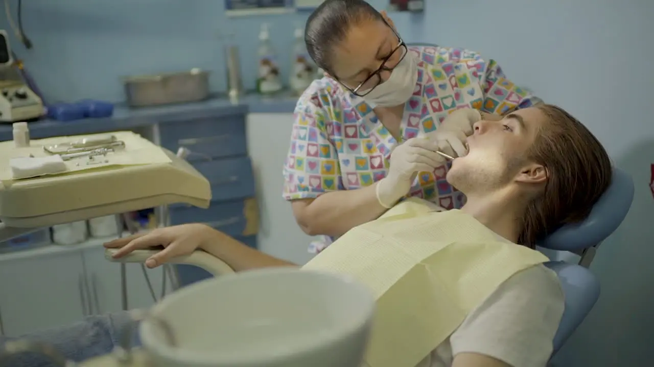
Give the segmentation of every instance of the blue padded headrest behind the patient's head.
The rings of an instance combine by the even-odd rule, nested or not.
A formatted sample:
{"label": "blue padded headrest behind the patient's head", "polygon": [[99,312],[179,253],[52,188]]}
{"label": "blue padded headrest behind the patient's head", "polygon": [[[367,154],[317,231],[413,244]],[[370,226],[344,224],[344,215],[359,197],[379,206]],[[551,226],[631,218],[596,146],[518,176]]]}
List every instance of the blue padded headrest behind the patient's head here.
{"label": "blue padded headrest behind the patient's head", "polygon": [[538,246],[563,251],[577,251],[595,246],[607,238],[625,219],[634,199],[631,176],[613,167],[611,185],[582,222],[564,225]]}

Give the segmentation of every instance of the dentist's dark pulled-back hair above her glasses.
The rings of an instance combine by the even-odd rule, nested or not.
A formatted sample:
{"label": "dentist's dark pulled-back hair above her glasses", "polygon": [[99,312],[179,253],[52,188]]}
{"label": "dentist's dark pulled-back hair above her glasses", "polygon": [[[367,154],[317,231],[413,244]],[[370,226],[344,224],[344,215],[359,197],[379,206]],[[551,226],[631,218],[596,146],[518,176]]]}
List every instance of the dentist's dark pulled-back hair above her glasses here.
{"label": "dentist's dark pulled-back hair above her glasses", "polygon": [[304,40],[311,59],[324,69],[332,70],[332,49],[345,39],[347,31],[362,20],[381,20],[381,14],[364,0],[326,0],[311,13],[304,29]]}

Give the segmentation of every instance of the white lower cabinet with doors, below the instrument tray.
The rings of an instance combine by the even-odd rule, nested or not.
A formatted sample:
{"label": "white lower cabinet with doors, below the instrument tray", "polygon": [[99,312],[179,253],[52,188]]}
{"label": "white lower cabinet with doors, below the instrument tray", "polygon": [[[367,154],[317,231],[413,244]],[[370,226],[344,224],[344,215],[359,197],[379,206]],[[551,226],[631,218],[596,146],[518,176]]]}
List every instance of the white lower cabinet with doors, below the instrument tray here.
{"label": "white lower cabinet with doors, below the instrument tray", "polygon": [[[20,336],[122,310],[120,264],[105,259],[105,240],[0,255],[0,331]],[[141,264],[126,270],[128,308],[149,308],[155,302]],[[159,299],[163,268],[146,274]]]}

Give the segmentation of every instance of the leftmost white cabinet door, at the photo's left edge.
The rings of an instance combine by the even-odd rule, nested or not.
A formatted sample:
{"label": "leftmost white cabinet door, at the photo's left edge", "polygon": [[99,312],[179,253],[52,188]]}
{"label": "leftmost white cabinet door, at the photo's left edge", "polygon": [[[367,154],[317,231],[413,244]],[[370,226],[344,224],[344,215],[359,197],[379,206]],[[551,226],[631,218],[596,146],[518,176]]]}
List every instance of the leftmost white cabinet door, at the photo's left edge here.
{"label": "leftmost white cabinet door, at the photo's left edge", "polygon": [[0,315],[5,335],[74,323],[84,317],[80,252],[0,261]]}

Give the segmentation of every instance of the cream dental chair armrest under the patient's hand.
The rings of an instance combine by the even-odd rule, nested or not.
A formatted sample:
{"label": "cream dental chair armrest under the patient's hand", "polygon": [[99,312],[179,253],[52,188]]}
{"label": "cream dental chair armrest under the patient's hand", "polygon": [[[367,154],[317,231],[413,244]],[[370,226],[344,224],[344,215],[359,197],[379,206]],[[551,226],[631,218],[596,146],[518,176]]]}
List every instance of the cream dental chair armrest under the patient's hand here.
{"label": "cream dental chair armrest under the patient's hand", "polygon": [[[120,259],[114,259],[112,255],[116,253],[116,251],[118,251],[118,249],[106,249],[105,258],[114,263],[145,263],[145,261],[150,256],[158,253],[160,250],[137,249],[128,255],[121,257]],[[228,274],[234,272],[234,270],[227,263],[202,250],[196,250],[190,255],[173,257],[173,259],[170,259],[168,263],[198,266],[199,268],[207,270],[207,272],[210,272],[213,274],[213,276],[219,276],[220,274]]]}

